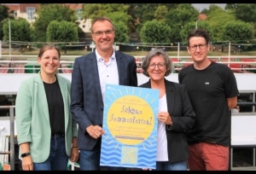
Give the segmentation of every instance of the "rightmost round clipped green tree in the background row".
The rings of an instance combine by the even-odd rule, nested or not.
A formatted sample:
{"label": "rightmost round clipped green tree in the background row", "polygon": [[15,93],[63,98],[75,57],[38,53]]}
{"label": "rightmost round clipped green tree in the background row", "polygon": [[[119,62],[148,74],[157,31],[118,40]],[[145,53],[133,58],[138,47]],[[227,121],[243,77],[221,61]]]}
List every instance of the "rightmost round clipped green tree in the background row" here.
{"label": "rightmost round clipped green tree in the background row", "polygon": [[253,39],[253,26],[244,21],[230,21],[224,26],[222,37],[227,41]]}

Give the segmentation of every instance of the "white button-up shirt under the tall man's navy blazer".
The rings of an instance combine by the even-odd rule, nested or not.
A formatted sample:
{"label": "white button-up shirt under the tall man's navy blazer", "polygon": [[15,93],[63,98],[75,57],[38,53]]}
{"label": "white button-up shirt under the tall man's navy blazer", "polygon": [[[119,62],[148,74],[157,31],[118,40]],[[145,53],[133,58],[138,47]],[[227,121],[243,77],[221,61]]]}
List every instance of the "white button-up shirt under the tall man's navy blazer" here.
{"label": "white button-up shirt under the tall man's navy blazer", "polygon": [[104,102],[106,84],[119,84],[119,73],[115,58],[115,52],[113,51],[113,55],[109,57],[108,62],[104,62],[104,59],[101,55],[99,55],[96,49],[96,59],[102,89],[102,100]]}

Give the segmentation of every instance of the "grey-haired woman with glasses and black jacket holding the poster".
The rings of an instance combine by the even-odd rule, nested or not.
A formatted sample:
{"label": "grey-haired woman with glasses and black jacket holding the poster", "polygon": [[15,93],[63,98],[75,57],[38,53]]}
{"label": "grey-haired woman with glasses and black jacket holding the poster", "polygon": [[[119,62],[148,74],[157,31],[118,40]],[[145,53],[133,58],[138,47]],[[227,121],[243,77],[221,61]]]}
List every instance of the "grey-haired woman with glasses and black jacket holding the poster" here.
{"label": "grey-haired woman with glasses and black jacket holding the poster", "polygon": [[166,80],[165,76],[172,73],[173,66],[162,49],[151,50],[144,58],[142,68],[149,80],[140,87],[160,90],[155,170],[187,171],[186,131],[195,124],[187,90],[183,84]]}

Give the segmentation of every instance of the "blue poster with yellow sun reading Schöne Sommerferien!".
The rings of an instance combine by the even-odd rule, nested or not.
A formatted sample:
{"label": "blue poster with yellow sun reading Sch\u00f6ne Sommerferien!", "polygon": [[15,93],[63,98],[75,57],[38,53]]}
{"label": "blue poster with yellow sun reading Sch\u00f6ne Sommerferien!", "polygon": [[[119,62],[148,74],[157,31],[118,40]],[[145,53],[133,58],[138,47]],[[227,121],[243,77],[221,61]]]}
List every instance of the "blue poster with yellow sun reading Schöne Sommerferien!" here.
{"label": "blue poster with yellow sun reading Sch\u00f6ne Sommerferien!", "polygon": [[155,169],[159,90],[106,84],[100,165]]}

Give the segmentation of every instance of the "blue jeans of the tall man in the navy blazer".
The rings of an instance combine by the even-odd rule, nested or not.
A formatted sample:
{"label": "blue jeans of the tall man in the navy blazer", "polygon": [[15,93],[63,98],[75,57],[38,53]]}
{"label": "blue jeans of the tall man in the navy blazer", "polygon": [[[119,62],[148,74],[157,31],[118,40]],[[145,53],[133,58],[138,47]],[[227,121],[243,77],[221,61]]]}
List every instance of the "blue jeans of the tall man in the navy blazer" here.
{"label": "blue jeans of the tall man in the navy blazer", "polygon": [[[80,149],[80,171],[100,171],[101,145],[99,140],[91,150]],[[125,168],[108,167],[108,171],[125,171]]]}

